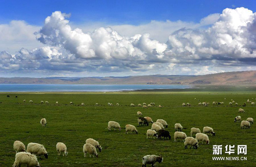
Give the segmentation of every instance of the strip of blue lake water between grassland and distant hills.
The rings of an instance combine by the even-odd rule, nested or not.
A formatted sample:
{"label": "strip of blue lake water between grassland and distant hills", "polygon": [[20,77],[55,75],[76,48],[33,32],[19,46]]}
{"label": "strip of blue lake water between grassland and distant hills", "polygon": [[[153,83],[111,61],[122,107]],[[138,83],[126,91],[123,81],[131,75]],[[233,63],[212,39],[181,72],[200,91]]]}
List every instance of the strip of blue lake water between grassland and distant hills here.
{"label": "strip of blue lake water between grassland and distant hills", "polygon": [[141,89],[185,89],[190,85],[58,85],[0,84],[0,92],[117,92]]}

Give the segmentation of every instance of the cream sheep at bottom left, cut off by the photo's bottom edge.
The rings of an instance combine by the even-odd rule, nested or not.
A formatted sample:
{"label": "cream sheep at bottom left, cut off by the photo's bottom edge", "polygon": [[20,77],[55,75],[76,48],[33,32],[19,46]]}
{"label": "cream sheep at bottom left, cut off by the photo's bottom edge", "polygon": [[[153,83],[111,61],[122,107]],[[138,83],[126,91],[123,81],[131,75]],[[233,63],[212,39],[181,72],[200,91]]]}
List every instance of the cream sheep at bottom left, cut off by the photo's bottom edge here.
{"label": "cream sheep at bottom left, cut off by the photo's bottom edge", "polygon": [[29,152],[18,152],[15,155],[12,167],[20,167],[21,164],[26,164],[28,167],[40,167],[37,157]]}

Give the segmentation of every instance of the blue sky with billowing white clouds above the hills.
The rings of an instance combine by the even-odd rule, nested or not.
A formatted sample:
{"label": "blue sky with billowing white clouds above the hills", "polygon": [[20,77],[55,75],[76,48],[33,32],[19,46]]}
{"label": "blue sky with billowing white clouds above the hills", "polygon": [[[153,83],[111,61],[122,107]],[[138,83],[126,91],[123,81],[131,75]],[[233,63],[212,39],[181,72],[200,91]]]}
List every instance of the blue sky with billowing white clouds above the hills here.
{"label": "blue sky with billowing white clouds above the hills", "polygon": [[252,0],[1,0],[0,77],[256,70]]}

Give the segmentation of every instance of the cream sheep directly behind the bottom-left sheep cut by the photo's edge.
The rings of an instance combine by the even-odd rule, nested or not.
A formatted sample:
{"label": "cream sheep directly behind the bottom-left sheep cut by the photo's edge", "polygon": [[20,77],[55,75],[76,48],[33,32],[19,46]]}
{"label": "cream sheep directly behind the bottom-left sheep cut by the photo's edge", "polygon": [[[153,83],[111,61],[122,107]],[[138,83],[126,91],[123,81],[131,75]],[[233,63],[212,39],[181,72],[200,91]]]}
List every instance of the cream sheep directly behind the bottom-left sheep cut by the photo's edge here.
{"label": "cream sheep directly behind the bottom-left sheep cut by the photo's edge", "polygon": [[39,156],[40,159],[41,159],[41,156],[44,155],[45,158],[48,159],[48,154],[45,147],[38,143],[29,143],[26,147],[26,152],[35,154],[36,156]]}

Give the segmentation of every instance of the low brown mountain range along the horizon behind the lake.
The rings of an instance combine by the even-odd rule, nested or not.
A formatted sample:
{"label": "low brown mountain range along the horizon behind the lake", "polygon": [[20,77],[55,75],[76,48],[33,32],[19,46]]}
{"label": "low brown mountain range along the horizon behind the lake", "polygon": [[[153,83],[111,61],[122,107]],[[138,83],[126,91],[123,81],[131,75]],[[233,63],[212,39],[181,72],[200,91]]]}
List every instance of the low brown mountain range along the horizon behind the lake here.
{"label": "low brown mountain range along the horizon behind the lake", "polygon": [[0,78],[0,84],[182,84],[256,85],[256,71],[225,72],[207,75],[143,75],[126,77],[49,77]]}

